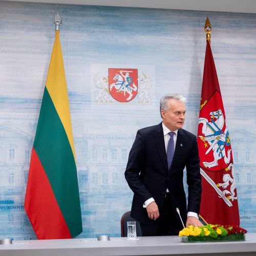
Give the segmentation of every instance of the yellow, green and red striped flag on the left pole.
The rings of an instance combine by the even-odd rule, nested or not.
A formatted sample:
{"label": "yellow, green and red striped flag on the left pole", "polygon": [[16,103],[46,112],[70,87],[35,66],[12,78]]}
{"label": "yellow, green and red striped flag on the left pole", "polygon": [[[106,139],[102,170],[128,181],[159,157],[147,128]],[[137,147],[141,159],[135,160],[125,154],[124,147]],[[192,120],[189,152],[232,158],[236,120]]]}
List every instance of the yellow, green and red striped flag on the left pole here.
{"label": "yellow, green and red striped flag on the left pole", "polygon": [[65,70],[56,31],[32,148],[25,210],[38,239],[74,238],[82,231]]}

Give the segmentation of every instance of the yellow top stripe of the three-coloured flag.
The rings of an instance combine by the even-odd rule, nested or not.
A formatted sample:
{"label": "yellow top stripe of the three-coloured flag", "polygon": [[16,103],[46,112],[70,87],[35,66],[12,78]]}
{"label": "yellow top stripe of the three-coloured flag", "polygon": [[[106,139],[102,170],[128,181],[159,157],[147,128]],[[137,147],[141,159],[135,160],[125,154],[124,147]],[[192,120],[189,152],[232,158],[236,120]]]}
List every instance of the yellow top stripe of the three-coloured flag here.
{"label": "yellow top stripe of the three-coloured flag", "polygon": [[51,96],[55,109],[67,133],[75,159],[74,140],[70,119],[69,99],[62,51],[59,40],[59,31],[55,33],[52,57],[49,65],[46,87]]}

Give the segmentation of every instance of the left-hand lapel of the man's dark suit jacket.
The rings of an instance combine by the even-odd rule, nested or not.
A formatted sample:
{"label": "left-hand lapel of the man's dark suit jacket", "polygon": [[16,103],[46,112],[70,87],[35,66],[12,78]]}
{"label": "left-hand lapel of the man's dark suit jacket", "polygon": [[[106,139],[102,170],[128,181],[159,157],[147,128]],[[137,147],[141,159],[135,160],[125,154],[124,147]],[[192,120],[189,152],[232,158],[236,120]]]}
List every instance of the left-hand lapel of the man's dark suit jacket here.
{"label": "left-hand lapel of the man's dark suit jacket", "polygon": [[167,164],[167,156],[166,156],[165,145],[164,145],[162,123],[160,123],[155,129],[155,131],[153,131],[153,135],[155,138],[156,148],[157,148],[159,157],[161,158],[165,171],[168,173],[168,164]]}

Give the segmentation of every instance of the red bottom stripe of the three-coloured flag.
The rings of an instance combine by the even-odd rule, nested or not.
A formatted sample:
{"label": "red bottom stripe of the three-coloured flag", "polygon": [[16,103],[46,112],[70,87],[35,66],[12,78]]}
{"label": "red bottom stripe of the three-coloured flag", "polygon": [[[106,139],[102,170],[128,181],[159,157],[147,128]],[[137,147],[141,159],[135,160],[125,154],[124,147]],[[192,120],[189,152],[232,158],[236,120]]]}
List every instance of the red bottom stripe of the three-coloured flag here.
{"label": "red bottom stripe of the three-coloured flag", "polygon": [[[45,234],[47,239],[72,238],[34,148],[32,148],[29,173],[25,209],[37,238],[46,239]],[[33,183],[33,180],[40,182]],[[40,200],[32,200],[32,197]]]}

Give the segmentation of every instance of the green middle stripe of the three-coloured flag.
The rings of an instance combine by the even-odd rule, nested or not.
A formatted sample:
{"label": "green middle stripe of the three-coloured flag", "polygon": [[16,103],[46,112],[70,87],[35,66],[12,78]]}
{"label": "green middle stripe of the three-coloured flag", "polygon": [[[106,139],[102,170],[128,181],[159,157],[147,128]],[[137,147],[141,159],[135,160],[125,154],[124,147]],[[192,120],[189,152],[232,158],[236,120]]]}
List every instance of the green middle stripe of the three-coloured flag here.
{"label": "green middle stripe of the three-coloured flag", "polygon": [[42,98],[34,148],[71,236],[75,237],[82,227],[76,165],[67,134],[47,88]]}

